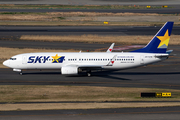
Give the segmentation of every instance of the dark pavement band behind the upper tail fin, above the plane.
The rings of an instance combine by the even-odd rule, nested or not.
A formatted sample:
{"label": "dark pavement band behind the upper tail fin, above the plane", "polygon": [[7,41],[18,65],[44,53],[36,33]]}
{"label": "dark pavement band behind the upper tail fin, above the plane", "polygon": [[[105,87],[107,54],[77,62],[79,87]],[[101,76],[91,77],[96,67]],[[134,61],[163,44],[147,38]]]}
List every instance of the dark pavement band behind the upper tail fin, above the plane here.
{"label": "dark pavement band behind the upper tail fin, above the plane", "polygon": [[[155,35],[162,26],[0,26],[0,37],[21,35]],[[172,34],[180,35],[180,26]]]}

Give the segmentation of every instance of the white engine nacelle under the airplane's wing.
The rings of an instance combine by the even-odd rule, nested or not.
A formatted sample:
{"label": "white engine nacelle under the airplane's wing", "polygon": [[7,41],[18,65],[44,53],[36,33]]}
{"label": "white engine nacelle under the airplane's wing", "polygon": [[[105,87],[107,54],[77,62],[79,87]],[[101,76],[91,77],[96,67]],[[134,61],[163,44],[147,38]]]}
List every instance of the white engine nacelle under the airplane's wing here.
{"label": "white engine nacelle under the airplane's wing", "polygon": [[78,74],[78,68],[76,66],[63,66],[61,68],[61,74],[66,74],[66,75]]}

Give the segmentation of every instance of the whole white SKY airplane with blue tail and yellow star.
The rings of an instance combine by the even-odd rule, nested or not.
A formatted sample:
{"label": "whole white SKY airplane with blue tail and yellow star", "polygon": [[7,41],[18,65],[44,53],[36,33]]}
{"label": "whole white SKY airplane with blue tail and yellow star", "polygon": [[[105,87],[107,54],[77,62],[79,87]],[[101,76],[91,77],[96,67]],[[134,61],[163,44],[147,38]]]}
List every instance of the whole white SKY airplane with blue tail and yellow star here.
{"label": "whole white SKY airplane with blue tail and yellow star", "polygon": [[168,50],[174,22],[166,22],[152,40],[143,48],[130,52],[112,52],[114,43],[106,52],[41,52],[24,53],[3,62],[13,71],[29,69],[59,69],[63,75],[78,75],[92,70],[122,70],[159,62],[168,58]]}

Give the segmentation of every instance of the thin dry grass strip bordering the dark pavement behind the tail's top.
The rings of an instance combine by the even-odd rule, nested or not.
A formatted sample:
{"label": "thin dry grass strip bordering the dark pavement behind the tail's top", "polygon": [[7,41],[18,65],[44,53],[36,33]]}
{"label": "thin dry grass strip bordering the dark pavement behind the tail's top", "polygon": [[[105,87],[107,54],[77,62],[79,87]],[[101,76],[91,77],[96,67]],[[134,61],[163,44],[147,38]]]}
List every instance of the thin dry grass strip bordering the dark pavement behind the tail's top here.
{"label": "thin dry grass strip bordering the dark pavement behind the tail's top", "polygon": [[[59,19],[59,18],[58,18]],[[103,21],[1,21],[0,25],[15,26],[162,26],[164,22],[110,22],[108,25]],[[180,25],[179,22],[175,23]]]}

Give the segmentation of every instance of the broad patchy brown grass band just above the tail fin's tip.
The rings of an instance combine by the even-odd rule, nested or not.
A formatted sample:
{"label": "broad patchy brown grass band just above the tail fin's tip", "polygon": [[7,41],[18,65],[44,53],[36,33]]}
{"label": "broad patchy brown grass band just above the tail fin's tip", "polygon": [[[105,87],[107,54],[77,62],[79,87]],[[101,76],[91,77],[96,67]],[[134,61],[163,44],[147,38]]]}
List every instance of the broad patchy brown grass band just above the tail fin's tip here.
{"label": "broad patchy brown grass band just above the tail fin's tip", "polygon": [[[155,20],[151,20],[150,18]],[[143,19],[142,19],[143,18]],[[179,25],[179,14],[157,13],[98,13],[98,12],[0,12],[0,25],[111,25],[111,26],[157,26],[170,18]],[[108,24],[104,24],[104,21]]]}

